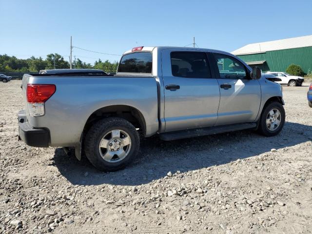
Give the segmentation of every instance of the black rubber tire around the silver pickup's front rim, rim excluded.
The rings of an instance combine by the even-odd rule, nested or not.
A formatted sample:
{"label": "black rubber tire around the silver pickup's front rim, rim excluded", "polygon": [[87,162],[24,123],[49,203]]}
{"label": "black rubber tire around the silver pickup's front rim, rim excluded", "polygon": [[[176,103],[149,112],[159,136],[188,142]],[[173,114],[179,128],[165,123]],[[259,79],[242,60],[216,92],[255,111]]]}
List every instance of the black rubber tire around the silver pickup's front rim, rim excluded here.
{"label": "black rubber tire around the silver pickup's front rim, rim excluded", "polygon": [[[267,127],[266,119],[267,119],[269,112],[272,109],[279,110],[281,114],[281,120],[280,120],[279,126],[275,130],[270,131]],[[264,109],[262,110],[261,117],[259,120],[259,125],[258,125],[258,132],[261,135],[264,135],[266,137],[276,136],[277,134],[279,134],[280,131],[282,131],[284,123],[285,123],[285,110],[284,110],[283,105],[277,101],[271,102],[270,104],[266,105]]]}

